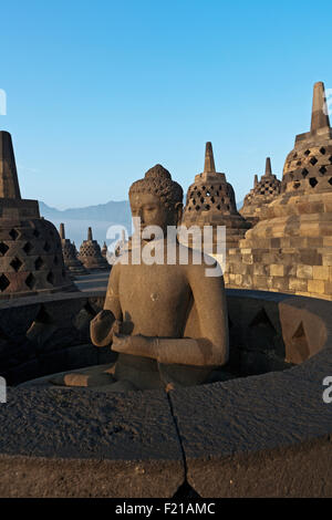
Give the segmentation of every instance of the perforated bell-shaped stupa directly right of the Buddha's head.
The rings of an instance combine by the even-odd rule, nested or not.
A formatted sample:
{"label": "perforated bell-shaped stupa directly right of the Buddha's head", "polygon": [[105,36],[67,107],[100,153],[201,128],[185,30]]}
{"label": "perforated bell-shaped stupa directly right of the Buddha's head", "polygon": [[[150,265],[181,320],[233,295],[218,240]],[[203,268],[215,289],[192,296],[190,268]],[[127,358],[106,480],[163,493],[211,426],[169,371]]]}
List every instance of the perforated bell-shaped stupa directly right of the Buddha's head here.
{"label": "perforated bell-shaped stupa directly right of the Buddha's head", "polygon": [[211,143],[206,143],[204,171],[195,176],[188,188],[183,223],[190,226],[226,226],[227,247],[235,248],[250,223],[238,212],[235,191],[226,175],[216,171]]}

